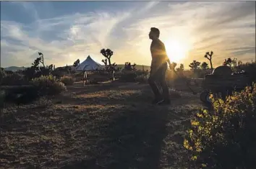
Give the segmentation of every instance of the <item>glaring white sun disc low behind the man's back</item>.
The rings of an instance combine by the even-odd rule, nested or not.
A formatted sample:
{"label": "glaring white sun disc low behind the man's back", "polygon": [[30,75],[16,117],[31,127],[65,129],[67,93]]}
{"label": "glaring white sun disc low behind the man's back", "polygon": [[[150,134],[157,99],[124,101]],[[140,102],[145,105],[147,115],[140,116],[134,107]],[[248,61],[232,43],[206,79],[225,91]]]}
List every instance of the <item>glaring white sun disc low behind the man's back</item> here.
{"label": "glaring white sun disc low behind the man's back", "polygon": [[187,57],[189,45],[179,40],[168,40],[165,43],[166,53],[171,62],[179,63]]}

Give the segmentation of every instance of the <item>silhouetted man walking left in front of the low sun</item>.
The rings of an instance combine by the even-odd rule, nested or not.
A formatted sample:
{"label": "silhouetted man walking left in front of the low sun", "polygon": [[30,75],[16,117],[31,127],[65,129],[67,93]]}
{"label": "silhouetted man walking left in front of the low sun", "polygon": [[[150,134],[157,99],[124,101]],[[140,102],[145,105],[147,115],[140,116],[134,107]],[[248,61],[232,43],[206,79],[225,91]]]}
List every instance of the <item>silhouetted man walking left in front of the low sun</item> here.
{"label": "silhouetted man walking left in front of the low sun", "polygon": [[[158,28],[151,27],[149,38],[152,40],[150,51],[152,55],[151,67],[150,67],[150,77],[148,78],[148,83],[155,94],[155,99],[153,104],[170,104],[168,86],[166,84],[166,70],[167,62],[171,68],[170,60],[166,54],[166,47],[163,42],[159,40],[160,31]],[[163,94],[160,93],[156,82],[160,83],[163,89]]]}

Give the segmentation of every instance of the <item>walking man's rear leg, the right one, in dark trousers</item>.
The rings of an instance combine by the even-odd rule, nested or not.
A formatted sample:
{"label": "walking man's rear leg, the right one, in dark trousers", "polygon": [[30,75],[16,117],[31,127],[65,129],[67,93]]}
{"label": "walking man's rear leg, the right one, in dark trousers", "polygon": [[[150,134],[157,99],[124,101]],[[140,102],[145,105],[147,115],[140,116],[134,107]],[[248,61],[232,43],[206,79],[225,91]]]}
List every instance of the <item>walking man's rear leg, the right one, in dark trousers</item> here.
{"label": "walking man's rear leg, the right one, in dark trousers", "polygon": [[168,90],[168,85],[166,83],[166,70],[167,70],[167,65],[163,65],[163,67],[161,68],[161,73],[159,73],[160,85],[161,85],[161,88],[163,89],[163,102],[161,102],[161,104],[170,104],[169,90]]}

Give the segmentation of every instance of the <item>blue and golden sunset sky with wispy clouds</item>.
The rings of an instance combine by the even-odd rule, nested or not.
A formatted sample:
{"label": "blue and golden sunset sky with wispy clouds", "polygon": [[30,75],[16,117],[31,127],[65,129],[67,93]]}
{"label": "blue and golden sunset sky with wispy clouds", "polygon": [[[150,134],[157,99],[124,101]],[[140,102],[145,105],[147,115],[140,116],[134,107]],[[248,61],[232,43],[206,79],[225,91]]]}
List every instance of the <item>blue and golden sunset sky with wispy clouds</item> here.
{"label": "blue and golden sunset sky with wispy clouds", "polygon": [[43,52],[56,67],[100,51],[112,63],[150,65],[151,27],[171,62],[255,60],[255,1],[1,1],[1,67],[30,66]]}

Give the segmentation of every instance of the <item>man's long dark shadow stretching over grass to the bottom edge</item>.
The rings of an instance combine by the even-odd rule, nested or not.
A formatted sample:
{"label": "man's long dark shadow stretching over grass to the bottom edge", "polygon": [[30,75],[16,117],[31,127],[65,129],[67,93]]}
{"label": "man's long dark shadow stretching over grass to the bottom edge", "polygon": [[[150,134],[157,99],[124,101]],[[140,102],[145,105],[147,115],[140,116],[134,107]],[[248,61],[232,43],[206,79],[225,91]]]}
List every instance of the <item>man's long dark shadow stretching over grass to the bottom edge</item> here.
{"label": "man's long dark shadow stretching over grass to the bottom edge", "polygon": [[158,168],[167,111],[116,113],[111,122],[100,124],[101,140],[91,152],[93,158],[64,168]]}

